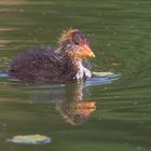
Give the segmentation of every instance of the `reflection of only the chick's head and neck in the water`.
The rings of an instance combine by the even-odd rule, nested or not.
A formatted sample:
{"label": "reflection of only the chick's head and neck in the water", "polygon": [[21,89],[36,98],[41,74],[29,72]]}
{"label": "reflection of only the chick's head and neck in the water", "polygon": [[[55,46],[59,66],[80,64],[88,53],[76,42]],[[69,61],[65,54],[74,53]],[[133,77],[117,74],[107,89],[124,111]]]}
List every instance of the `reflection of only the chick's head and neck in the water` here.
{"label": "reflection of only the chick's head and neck in the water", "polygon": [[96,109],[95,101],[84,99],[87,93],[90,90],[84,88],[83,84],[79,83],[70,88],[70,93],[67,95],[68,99],[56,106],[56,109],[69,124],[80,125],[84,123]]}

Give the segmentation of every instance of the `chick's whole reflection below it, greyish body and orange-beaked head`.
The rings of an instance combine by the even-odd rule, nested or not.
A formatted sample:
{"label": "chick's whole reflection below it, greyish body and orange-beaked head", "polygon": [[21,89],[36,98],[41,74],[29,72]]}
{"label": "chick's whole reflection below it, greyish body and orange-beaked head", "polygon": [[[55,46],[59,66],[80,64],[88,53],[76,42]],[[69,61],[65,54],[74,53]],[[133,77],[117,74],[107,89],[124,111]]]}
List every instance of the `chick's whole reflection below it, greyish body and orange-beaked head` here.
{"label": "chick's whole reflection below it, greyish body and orange-beaked head", "polygon": [[54,85],[45,90],[44,87],[37,88],[33,88],[32,101],[55,104],[56,110],[71,125],[80,125],[86,122],[96,109],[96,102],[87,99],[91,94],[88,87],[84,87],[82,83]]}

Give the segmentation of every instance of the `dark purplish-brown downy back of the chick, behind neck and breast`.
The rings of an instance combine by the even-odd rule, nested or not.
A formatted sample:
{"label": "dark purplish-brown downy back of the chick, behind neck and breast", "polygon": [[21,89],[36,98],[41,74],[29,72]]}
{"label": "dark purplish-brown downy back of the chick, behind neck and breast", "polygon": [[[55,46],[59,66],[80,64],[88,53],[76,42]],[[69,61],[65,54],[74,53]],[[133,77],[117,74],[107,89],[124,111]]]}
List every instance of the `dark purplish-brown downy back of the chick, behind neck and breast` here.
{"label": "dark purplish-brown downy back of the chick, behind neck and breast", "polygon": [[73,81],[76,69],[68,56],[52,47],[37,47],[12,60],[9,76],[40,83]]}

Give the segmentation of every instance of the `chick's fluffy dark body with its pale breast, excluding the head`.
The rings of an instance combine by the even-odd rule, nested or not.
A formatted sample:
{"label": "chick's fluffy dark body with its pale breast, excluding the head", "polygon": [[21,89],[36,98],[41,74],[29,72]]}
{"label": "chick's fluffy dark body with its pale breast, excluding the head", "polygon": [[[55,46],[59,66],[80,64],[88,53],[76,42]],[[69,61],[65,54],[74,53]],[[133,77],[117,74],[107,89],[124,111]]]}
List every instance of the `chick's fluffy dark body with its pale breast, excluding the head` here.
{"label": "chick's fluffy dark body with its pale breast, excluding the head", "polygon": [[9,76],[36,83],[82,81],[91,77],[91,71],[83,66],[82,58],[76,56],[77,54],[72,57],[72,49],[69,47],[67,52],[68,49],[63,45],[56,50],[40,46],[22,53],[11,61]]}

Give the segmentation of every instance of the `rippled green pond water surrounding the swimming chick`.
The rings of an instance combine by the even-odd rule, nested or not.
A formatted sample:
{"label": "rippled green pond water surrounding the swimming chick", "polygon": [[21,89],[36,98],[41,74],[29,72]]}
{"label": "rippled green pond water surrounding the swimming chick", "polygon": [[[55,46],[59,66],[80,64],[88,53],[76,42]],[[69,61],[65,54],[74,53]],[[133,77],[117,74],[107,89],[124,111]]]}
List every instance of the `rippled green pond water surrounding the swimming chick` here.
{"label": "rippled green pond water surrounding the swimming chick", "polygon": [[[73,27],[91,41],[94,70],[122,77],[86,87],[0,78],[0,151],[150,151],[150,0],[1,0],[0,70],[27,49],[55,46],[61,30]],[[86,102],[96,110],[84,116]],[[28,134],[49,136],[52,143],[5,141]]]}

